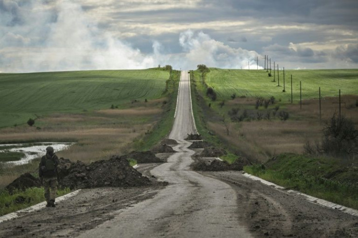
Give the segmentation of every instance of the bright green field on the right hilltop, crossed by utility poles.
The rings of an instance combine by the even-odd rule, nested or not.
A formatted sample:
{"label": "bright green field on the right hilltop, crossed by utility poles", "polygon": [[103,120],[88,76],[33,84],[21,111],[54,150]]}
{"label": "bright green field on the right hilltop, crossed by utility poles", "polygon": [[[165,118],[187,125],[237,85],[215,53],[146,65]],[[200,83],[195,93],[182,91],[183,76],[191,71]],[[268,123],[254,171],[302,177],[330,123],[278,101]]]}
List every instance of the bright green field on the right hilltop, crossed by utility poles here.
{"label": "bright green field on the right hilltop, crossed by utility poles", "polygon": [[332,97],[339,94],[358,94],[358,69],[324,69],[324,70],[285,70],[285,89],[283,70],[279,71],[280,86],[278,86],[277,70],[275,82],[266,70],[218,69],[210,68],[205,82],[214,88],[218,99],[229,100],[233,93],[238,97],[274,96],[282,102],[291,100],[291,75],[293,100],[300,100],[300,81],[302,82],[302,98],[319,97],[321,87],[322,97]]}

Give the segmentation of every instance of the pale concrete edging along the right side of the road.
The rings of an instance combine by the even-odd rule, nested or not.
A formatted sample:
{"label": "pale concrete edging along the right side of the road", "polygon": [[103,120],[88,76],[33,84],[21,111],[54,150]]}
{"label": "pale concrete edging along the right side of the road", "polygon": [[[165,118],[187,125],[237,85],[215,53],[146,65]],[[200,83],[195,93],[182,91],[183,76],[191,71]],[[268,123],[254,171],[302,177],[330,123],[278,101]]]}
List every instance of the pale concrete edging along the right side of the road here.
{"label": "pale concrete edging along the right side of the road", "polygon": [[[243,175],[245,177],[247,177],[247,178],[252,179],[252,180],[260,181],[261,183],[263,183],[263,184],[265,184],[267,186],[274,187],[274,188],[280,189],[280,190],[286,190],[285,187],[278,186],[278,185],[276,185],[274,183],[271,183],[269,181],[266,181],[266,180],[264,180],[262,178],[259,178],[259,177],[256,177],[254,175],[251,175],[250,173],[244,172]],[[320,199],[320,198],[315,198],[315,197],[312,197],[310,195],[307,195],[305,193],[295,191],[295,190],[287,190],[287,192],[290,193],[290,194],[303,196],[304,199],[307,200],[308,202],[311,202],[311,203],[314,203],[314,204],[319,204],[319,205],[325,206],[327,208],[330,208],[330,209],[333,209],[333,210],[339,210],[339,211],[347,213],[349,215],[358,217],[358,210],[356,210],[356,209],[349,208],[349,207],[346,207],[346,206],[342,206],[340,204],[331,203],[331,202],[328,202],[326,200],[323,200],[323,199]]]}

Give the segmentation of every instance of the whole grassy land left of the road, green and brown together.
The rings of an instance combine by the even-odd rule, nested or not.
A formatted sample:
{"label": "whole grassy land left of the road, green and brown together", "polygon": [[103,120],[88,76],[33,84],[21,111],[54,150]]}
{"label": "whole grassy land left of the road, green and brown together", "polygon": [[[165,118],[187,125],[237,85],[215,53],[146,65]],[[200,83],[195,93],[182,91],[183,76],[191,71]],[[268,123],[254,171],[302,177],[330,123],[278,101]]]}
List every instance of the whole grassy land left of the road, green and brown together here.
{"label": "whole grassy land left of the road, green and brown together", "polygon": [[[26,75],[32,75],[33,78],[27,79]],[[52,80],[54,75],[55,80]],[[59,87],[73,81],[74,85],[78,85],[77,93],[69,94],[67,98],[62,97],[62,92],[70,90],[68,86],[63,85],[56,91],[59,107],[51,106],[51,103],[36,93],[27,92],[28,97],[37,97],[39,101],[27,104],[29,113],[38,116],[34,126],[26,124],[27,113],[16,107],[12,108],[12,105],[20,105],[19,102],[25,103],[19,94],[17,97],[13,96],[14,103],[6,105],[6,110],[0,108],[0,111],[12,111],[22,124],[13,126],[13,119],[3,117],[1,112],[2,126],[8,126],[0,128],[0,143],[77,142],[68,150],[56,154],[58,157],[81,160],[84,163],[107,159],[111,155],[122,155],[131,150],[149,150],[170,132],[179,76],[179,71],[173,70],[170,74],[163,68],[0,74],[0,88],[6,87],[9,90],[12,89],[9,82],[11,77],[18,82],[28,80],[26,84],[31,85],[34,92],[42,92],[43,84]],[[53,83],[47,83],[48,80]],[[85,88],[82,89],[79,85]],[[88,91],[92,97],[87,95]],[[17,93],[16,90],[13,92]],[[113,92],[114,96],[111,95]],[[82,97],[88,100],[81,101]],[[56,104],[55,101],[52,103]],[[113,109],[110,108],[112,104]],[[36,159],[21,166],[0,164],[0,187],[12,182],[19,174],[36,173],[37,167]]]}

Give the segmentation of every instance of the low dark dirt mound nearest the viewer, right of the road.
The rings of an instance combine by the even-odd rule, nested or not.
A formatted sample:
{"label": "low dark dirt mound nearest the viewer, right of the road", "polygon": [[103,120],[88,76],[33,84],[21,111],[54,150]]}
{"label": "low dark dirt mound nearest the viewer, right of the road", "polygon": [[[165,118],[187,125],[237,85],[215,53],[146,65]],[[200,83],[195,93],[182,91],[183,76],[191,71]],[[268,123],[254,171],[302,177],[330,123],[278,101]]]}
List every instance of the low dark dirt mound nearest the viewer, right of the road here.
{"label": "low dark dirt mound nearest the viewer, right of the road", "polygon": [[229,164],[226,161],[214,159],[210,165],[204,160],[198,160],[192,165],[193,170],[198,171],[227,171],[227,170],[242,170],[244,166],[251,165],[251,162],[245,158],[237,158],[235,162]]}

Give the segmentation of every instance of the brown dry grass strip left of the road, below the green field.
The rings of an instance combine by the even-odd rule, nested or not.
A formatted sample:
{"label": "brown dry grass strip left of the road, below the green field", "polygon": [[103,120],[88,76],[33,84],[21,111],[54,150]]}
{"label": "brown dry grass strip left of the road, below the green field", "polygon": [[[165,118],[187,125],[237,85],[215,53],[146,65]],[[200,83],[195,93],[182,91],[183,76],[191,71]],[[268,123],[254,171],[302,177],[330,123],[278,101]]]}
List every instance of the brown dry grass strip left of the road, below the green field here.
{"label": "brown dry grass strip left of the road, below the green field", "polygon": [[[85,163],[107,159],[114,154],[132,150],[133,141],[151,130],[161,117],[161,102],[137,105],[131,109],[108,109],[81,114],[53,114],[36,120],[33,127],[21,125],[0,129],[0,143],[26,141],[77,142],[69,150],[57,152],[58,157]],[[149,106],[151,105],[151,106]],[[36,129],[39,127],[39,129]],[[5,187],[36,165],[0,170],[0,187]],[[34,169],[35,168],[35,169]]]}

